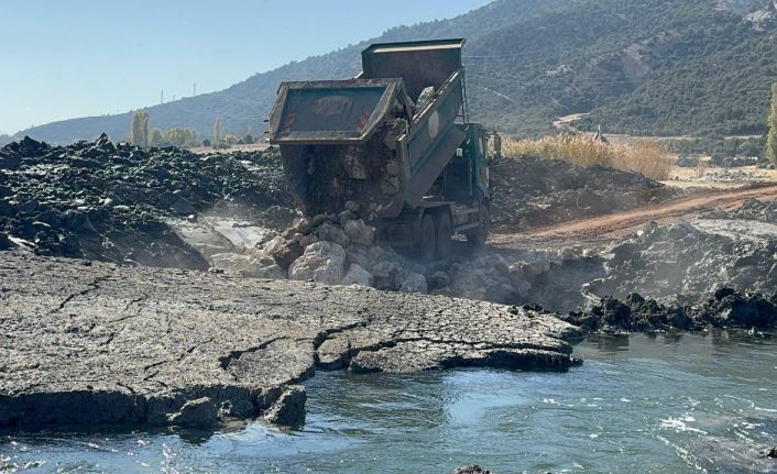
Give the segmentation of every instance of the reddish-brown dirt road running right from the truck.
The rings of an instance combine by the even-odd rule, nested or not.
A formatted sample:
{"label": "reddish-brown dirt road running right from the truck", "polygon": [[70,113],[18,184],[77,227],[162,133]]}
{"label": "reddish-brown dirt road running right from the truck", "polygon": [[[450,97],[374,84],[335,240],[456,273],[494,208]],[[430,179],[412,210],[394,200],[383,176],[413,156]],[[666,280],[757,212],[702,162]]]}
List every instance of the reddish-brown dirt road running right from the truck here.
{"label": "reddish-brown dirt road running right from the truck", "polygon": [[490,242],[497,247],[522,246],[540,241],[546,246],[606,244],[638,230],[650,221],[666,223],[680,219],[690,220],[707,210],[735,209],[751,198],[762,201],[777,200],[777,185],[759,184],[733,190],[705,192],[701,196],[690,196],[633,211],[599,216],[550,227],[524,229],[518,233],[494,233]]}

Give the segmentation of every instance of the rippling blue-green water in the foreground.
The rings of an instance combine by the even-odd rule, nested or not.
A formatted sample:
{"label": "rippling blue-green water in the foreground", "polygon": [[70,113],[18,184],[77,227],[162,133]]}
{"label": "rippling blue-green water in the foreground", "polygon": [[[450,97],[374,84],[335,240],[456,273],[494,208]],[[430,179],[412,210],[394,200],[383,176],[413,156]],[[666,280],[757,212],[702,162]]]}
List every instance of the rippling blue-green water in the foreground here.
{"label": "rippling blue-green water in the foreground", "polygon": [[11,433],[0,472],[777,472],[777,339],[590,339],[567,374],[324,373],[308,422],[197,432]]}

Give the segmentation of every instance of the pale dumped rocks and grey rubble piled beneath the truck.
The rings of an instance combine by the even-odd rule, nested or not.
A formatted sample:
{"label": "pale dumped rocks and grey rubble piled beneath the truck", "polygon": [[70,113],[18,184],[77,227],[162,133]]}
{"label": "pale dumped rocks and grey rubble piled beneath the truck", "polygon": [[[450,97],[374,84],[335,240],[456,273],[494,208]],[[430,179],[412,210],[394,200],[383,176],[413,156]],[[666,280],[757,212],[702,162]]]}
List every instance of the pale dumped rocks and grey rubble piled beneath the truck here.
{"label": "pale dumped rocks and grey rubble piled beneath the truck", "polygon": [[209,260],[218,271],[247,277],[361,285],[507,305],[538,302],[555,311],[587,304],[582,286],[605,274],[601,257],[569,249],[461,252],[422,264],[375,242],[375,229],[359,217],[355,203],[349,202],[349,208],[338,216],[299,219],[274,238],[256,233],[264,239],[255,246],[247,245],[242,253],[216,253]]}

